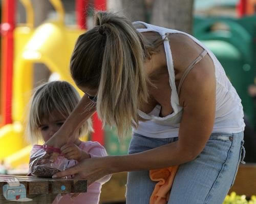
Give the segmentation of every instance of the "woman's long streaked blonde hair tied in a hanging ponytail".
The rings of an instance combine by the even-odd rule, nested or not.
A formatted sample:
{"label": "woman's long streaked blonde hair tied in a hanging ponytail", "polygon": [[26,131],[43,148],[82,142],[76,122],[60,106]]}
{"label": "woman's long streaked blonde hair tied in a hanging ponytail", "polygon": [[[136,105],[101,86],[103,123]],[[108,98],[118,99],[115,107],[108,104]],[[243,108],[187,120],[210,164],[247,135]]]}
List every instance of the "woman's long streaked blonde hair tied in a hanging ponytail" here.
{"label": "woman's long streaked blonde hair tied in a hanging ponytail", "polygon": [[129,19],[102,11],[95,12],[95,27],[76,41],[72,78],[78,86],[98,90],[97,113],[103,125],[117,127],[119,136],[143,120],[138,109],[147,102],[151,84],[143,62],[160,41],[148,43]]}

